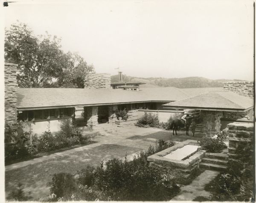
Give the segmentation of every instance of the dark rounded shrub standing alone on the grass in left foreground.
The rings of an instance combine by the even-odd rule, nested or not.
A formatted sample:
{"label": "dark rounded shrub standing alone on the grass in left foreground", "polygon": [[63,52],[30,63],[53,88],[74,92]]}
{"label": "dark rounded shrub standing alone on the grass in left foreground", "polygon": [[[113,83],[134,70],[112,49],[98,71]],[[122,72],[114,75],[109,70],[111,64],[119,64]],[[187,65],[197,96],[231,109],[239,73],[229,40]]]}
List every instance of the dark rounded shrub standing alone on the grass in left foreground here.
{"label": "dark rounded shrub standing alone on the grass in left foreground", "polygon": [[76,180],[72,174],[58,173],[52,177],[52,182],[49,183],[50,192],[58,197],[70,195],[76,190]]}

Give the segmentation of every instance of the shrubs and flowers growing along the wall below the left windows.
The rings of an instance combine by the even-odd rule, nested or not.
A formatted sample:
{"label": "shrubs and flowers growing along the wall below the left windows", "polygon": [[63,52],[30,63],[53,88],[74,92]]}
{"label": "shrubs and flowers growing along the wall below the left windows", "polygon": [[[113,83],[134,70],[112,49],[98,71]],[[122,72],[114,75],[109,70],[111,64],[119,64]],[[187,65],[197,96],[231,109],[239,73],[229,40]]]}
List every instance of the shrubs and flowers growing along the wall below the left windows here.
{"label": "shrubs and flowers growing along the wall below the left windows", "polygon": [[24,132],[24,126],[26,123],[19,122],[9,126],[5,132],[6,164],[13,163],[14,160],[28,160],[37,157],[39,153],[90,143],[70,118],[61,121],[58,133],[52,134],[48,128],[40,137],[32,132]]}

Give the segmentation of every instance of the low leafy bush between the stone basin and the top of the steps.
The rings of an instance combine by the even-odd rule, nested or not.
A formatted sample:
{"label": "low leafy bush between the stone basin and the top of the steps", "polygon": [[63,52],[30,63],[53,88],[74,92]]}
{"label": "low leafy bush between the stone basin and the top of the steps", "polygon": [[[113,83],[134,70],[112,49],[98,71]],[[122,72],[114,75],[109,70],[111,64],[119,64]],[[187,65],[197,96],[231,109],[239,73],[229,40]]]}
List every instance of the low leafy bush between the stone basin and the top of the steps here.
{"label": "low leafy bush between the stone basin and the top of the steps", "polygon": [[203,137],[201,140],[198,140],[197,142],[202,147],[202,149],[206,150],[207,152],[217,153],[227,148],[224,142],[209,137]]}

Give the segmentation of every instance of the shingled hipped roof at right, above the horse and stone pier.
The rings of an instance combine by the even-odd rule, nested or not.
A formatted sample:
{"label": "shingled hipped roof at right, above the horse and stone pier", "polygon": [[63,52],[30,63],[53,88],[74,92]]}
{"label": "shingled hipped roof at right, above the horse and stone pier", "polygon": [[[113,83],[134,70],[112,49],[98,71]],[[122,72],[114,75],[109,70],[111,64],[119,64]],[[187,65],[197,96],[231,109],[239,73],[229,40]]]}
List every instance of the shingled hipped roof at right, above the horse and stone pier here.
{"label": "shingled hipped roof at right, above the horse and stone pier", "polygon": [[166,108],[201,110],[238,110],[245,111],[253,107],[253,99],[231,91],[211,91],[163,105]]}

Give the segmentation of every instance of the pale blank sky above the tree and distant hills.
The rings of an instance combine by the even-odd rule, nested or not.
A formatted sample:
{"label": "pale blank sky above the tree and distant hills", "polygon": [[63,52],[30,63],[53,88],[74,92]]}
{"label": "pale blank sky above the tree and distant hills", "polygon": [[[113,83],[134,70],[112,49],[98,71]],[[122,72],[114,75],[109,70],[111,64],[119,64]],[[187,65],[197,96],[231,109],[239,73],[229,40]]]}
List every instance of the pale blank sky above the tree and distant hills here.
{"label": "pale blank sky above the tree and distant hills", "polygon": [[96,72],[253,80],[253,1],[28,1],[4,7],[36,35],[62,38]]}

